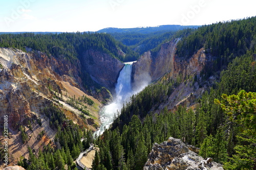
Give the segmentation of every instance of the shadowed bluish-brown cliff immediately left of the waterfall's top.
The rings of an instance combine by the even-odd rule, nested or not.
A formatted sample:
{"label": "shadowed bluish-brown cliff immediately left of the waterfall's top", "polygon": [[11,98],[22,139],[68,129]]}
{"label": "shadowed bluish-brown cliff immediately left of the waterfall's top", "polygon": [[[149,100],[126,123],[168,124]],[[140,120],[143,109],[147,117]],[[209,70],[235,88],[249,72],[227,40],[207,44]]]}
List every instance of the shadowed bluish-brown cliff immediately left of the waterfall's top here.
{"label": "shadowed bluish-brown cliff immediately left of the waterfall's top", "polygon": [[115,88],[119,72],[124,66],[121,61],[109,54],[95,50],[83,53],[81,65],[94,81],[110,90]]}

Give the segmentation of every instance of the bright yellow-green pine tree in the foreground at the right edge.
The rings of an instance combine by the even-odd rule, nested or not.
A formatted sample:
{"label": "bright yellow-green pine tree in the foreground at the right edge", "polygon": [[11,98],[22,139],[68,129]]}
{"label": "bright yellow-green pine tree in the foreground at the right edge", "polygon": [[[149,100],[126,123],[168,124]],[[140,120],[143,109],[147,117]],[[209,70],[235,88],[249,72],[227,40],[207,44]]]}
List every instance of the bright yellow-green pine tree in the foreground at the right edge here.
{"label": "bright yellow-green pine tree in the foreground at the right edge", "polygon": [[223,101],[215,100],[228,116],[228,121],[236,123],[239,133],[236,153],[229,162],[224,163],[227,169],[256,168],[256,92],[241,90],[238,95],[222,95]]}

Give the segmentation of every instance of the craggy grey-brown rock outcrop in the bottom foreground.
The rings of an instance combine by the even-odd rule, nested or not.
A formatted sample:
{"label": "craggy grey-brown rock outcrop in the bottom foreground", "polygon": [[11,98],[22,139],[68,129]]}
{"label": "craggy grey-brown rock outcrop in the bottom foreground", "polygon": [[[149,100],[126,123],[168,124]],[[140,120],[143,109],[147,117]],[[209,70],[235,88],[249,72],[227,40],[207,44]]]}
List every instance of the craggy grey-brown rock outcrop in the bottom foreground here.
{"label": "craggy grey-brown rock outcrop in the bottom foreground", "polygon": [[[191,148],[191,146],[190,146]],[[161,144],[155,143],[148,160],[144,165],[144,170],[185,170],[185,169],[215,169],[223,170],[221,164],[205,160],[198,156],[183,143],[180,139],[169,137]]]}

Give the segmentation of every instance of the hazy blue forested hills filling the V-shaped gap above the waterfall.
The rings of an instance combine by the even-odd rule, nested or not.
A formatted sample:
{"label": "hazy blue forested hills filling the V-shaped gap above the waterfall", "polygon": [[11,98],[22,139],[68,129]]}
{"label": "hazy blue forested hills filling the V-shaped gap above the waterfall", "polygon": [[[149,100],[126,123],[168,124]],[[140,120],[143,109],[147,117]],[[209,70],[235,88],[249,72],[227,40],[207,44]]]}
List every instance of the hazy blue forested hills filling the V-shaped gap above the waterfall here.
{"label": "hazy blue forested hills filling the V-shaped gap above the waterfall", "polygon": [[[164,25],[158,27],[143,28],[105,28],[99,30],[98,33],[111,34],[116,40],[122,44],[130,46],[139,55],[160,47],[162,43],[168,42],[179,31],[192,31],[201,26],[180,26],[180,25]],[[177,33],[176,35],[178,35]],[[178,36],[183,35],[183,32]]]}

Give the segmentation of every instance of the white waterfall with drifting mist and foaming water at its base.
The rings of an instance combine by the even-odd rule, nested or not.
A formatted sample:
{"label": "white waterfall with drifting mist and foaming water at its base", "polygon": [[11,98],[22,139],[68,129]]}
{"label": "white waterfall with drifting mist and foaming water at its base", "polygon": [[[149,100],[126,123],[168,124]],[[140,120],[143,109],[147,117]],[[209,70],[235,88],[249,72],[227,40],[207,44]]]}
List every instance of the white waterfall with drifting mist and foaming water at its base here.
{"label": "white waterfall with drifting mist and foaming water at its base", "polygon": [[110,125],[114,122],[115,115],[120,114],[123,104],[130,101],[130,98],[133,94],[136,94],[143,90],[148,83],[151,82],[151,77],[148,75],[146,77],[147,81],[140,83],[139,87],[132,87],[132,64],[133,62],[124,63],[124,67],[120,71],[117,84],[115,87],[115,96],[111,104],[104,106],[100,110],[100,122],[101,126],[94,135],[101,135],[104,132],[104,129],[108,129]]}

